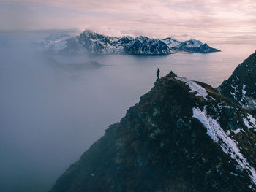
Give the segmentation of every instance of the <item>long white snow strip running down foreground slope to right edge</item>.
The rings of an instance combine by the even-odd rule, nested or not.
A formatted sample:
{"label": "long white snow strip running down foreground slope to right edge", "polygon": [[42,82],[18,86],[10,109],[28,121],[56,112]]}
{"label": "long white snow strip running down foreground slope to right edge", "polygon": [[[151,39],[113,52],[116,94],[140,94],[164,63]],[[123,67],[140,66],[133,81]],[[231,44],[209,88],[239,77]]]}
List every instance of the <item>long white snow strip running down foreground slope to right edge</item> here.
{"label": "long white snow strip running down foreground slope to right edge", "polygon": [[221,128],[217,120],[207,115],[206,107],[200,110],[198,107],[193,108],[193,118],[196,118],[207,129],[207,134],[214,142],[217,142],[222,150],[249,173],[252,182],[256,184],[256,171],[255,168],[250,166],[249,162],[244,155],[241,154],[236,141],[228,137],[225,131]]}

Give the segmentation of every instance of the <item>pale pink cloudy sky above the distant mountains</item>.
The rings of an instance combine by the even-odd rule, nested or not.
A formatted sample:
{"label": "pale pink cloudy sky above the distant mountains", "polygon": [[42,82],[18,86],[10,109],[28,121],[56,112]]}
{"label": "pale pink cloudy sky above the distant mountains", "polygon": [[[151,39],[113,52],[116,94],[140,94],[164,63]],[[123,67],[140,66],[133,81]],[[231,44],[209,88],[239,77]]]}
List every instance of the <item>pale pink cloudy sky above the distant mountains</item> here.
{"label": "pale pink cloudy sky above the distant mountains", "polygon": [[255,0],[0,0],[0,31],[90,29],[204,42],[256,42]]}

